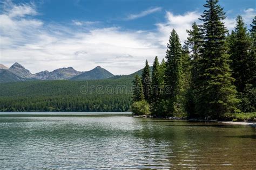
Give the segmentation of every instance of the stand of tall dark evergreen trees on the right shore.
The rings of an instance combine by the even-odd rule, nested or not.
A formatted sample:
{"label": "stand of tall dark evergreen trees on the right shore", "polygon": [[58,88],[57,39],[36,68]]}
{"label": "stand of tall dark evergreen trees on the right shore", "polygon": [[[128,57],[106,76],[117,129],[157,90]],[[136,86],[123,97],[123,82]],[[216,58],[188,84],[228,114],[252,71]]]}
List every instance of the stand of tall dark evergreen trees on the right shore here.
{"label": "stand of tall dark evergreen trees on the right shore", "polygon": [[224,119],[251,112],[255,117],[256,17],[247,30],[238,16],[229,34],[218,0],[207,0],[204,7],[202,24],[192,24],[184,45],[172,30],[166,62],[156,56],[152,74],[146,61],[142,77],[135,77],[134,114]]}

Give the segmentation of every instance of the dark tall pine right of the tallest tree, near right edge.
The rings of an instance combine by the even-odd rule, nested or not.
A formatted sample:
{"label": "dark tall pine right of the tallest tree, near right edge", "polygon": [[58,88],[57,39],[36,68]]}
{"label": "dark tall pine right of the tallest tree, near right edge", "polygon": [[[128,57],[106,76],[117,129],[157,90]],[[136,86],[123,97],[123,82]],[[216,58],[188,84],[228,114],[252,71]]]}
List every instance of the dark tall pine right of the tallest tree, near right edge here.
{"label": "dark tall pine right of the tallest tree, near right edge", "polygon": [[[252,28],[253,30],[253,28]],[[253,35],[253,34],[251,34]],[[253,56],[253,37],[247,32],[246,25],[241,16],[237,17],[237,25],[231,35],[228,36],[228,45],[232,77],[235,79],[235,86],[239,92],[239,109],[244,112],[255,111],[255,56]],[[255,83],[255,82],[254,82]]]}

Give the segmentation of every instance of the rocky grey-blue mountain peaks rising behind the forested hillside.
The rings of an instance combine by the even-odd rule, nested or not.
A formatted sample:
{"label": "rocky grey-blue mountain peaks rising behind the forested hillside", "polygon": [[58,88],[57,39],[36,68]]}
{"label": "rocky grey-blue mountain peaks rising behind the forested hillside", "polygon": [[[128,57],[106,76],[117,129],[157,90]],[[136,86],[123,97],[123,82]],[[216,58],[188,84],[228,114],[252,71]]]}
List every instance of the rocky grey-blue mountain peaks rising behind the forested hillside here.
{"label": "rocky grey-blue mountain peaks rising behind the forested hillside", "polygon": [[17,82],[27,80],[99,80],[113,77],[106,69],[97,66],[87,72],[79,72],[72,67],[58,68],[32,74],[28,69],[15,62],[10,68],[0,64],[0,82]]}

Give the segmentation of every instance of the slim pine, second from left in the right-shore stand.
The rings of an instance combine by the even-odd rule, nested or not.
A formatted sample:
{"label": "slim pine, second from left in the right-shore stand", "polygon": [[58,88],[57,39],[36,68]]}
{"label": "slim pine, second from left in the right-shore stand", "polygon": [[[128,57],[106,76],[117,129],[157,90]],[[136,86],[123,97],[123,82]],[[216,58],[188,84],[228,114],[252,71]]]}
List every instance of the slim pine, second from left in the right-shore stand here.
{"label": "slim pine, second from left in the right-shore stand", "polygon": [[143,85],[143,93],[145,100],[149,102],[150,100],[150,90],[151,90],[151,77],[150,77],[150,66],[146,60],[145,67],[142,71],[142,85]]}

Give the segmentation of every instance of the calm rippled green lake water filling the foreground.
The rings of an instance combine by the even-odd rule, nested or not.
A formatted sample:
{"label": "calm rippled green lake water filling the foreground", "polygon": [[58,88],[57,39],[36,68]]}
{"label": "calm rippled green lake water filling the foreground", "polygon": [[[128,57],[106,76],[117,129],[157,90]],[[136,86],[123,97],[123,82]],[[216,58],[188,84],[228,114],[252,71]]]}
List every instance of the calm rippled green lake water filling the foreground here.
{"label": "calm rippled green lake water filling the foreground", "polygon": [[250,126],[127,116],[0,116],[0,168],[255,165],[256,129]]}

